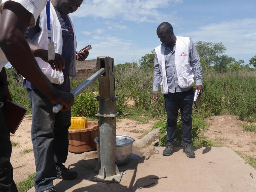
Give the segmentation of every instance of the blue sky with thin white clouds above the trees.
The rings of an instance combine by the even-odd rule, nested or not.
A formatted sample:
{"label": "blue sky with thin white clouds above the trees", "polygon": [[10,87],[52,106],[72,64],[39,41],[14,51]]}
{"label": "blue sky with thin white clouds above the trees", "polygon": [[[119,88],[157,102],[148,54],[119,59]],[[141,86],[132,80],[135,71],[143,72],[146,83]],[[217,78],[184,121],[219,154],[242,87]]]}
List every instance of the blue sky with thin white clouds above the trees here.
{"label": "blue sky with thin white clouds above the trees", "polygon": [[176,36],[222,42],[225,54],[247,64],[256,55],[255,7],[255,0],[84,0],[70,16],[77,50],[92,46],[88,59],[139,62],[161,44],[158,25],[169,22]]}

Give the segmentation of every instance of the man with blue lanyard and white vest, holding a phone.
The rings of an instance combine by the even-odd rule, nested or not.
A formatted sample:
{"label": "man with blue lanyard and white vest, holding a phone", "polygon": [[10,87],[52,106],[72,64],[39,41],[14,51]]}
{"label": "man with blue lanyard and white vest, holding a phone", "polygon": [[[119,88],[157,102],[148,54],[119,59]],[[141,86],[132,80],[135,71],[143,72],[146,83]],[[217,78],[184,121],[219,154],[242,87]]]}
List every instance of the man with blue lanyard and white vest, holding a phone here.
{"label": "man with blue lanyard and white vest, holding a phone", "polygon": [[[74,52],[76,37],[68,15],[76,11],[82,2],[83,0],[51,0],[39,15],[35,27],[29,28],[25,34],[40,68],[43,71],[48,68],[51,73],[56,74],[61,72],[62,76],[56,81],[51,73],[48,76],[47,71],[44,71],[52,85],[60,91],[70,92],[69,76],[76,75],[76,60],[83,61],[89,54],[87,50],[81,50],[77,54]],[[47,11],[50,14],[47,15]],[[55,50],[55,60],[51,61],[47,57],[49,31]],[[63,165],[68,155],[71,110],[55,114],[52,103],[35,85],[26,81],[26,88],[33,115],[31,135],[36,165],[35,190],[56,191],[53,186],[55,178],[72,180],[77,177],[76,171]]]}

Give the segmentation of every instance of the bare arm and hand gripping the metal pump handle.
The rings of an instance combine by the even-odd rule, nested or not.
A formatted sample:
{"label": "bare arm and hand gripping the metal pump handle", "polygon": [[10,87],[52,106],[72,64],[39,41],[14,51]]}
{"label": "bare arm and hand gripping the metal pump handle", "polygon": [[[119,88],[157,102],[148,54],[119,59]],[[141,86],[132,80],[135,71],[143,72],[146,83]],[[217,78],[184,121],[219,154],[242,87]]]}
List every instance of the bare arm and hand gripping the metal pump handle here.
{"label": "bare arm and hand gripping the metal pump handle", "polygon": [[66,109],[70,109],[73,104],[72,95],[63,94],[52,86],[39,68],[25,39],[24,33],[30,18],[31,13],[19,3],[5,2],[0,23],[0,47],[13,67],[52,103],[63,103]]}

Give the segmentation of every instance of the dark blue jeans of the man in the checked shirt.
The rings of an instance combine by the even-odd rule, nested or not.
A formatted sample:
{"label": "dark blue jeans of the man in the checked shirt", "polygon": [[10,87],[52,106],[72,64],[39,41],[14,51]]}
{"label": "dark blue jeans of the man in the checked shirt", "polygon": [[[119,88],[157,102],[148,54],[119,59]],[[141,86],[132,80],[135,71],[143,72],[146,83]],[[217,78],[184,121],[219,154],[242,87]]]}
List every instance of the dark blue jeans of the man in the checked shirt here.
{"label": "dark blue jeans of the man in the checked shirt", "polygon": [[182,141],[181,145],[184,147],[187,144],[192,143],[192,106],[194,100],[194,90],[191,88],[188,91],[168,93],[164,95],[164,104],[167,112],[167,123],[166,123],[166,140],[176,144],[177,135],[177,118],[178,110],[181,112],[182,122]]}

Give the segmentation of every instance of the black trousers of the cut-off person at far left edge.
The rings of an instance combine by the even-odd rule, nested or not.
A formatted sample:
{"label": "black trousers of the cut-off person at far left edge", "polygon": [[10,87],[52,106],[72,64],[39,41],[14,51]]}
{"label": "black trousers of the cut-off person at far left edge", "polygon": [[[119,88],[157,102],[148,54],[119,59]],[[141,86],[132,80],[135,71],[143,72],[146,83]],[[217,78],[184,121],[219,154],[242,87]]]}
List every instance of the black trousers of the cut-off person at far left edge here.
{"label": "black trousers of the cut-off person at far left edge", "polygon": [[3,85],[0,85],[0,191],[18,192],[13,181],[13,169],[10,163],[12,145],[6,119],[6,96]]}

